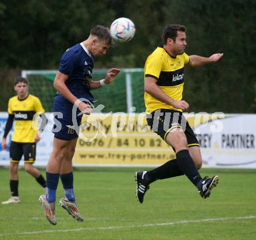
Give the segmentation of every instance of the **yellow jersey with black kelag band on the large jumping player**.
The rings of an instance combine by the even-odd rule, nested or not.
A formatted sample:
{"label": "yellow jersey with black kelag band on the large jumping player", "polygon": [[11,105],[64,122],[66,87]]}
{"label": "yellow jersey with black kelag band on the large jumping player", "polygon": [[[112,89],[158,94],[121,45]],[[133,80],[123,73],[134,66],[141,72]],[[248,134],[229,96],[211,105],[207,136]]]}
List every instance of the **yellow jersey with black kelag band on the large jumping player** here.
{"label": "yellow jersey with black kelag band on the large jumping player", "polygon": [[[184,85],[184,66],[189,63],[189,56],[186,53],[170,56],[162,47],[158,47],[148,56],[145,63],[145,77],[157,79],[157,85],[162,91],[174,100],[182,100]],[[159,108],[182,111],[152,97],[149,93],[144,94],[147,112],[153,112]]]}

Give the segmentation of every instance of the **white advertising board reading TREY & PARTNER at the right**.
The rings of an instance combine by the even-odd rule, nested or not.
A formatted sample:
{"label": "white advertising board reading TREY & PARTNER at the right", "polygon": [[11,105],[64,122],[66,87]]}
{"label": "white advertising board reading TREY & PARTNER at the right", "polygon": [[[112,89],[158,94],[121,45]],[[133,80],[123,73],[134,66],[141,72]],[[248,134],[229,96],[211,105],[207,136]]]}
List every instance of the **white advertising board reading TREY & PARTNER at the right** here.
{"label": "white advertising board reading TREY & PARTNER at the right", "polygon": [[256,168],[256,115],[226,114],[194,129],[204,166]]}

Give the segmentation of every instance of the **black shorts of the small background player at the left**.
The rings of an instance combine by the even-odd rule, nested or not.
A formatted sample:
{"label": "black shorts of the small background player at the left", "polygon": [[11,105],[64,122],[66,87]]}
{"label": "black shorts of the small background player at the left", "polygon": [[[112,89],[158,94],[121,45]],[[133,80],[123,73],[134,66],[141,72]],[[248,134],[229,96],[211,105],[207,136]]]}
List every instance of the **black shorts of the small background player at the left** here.
{"label": "black shorts of the small background player at the left", "polygon": [[24,155],[25,163],[35,162],[35,143],[17,143],[12,141],[10,143],[10,162],[19,163]]}

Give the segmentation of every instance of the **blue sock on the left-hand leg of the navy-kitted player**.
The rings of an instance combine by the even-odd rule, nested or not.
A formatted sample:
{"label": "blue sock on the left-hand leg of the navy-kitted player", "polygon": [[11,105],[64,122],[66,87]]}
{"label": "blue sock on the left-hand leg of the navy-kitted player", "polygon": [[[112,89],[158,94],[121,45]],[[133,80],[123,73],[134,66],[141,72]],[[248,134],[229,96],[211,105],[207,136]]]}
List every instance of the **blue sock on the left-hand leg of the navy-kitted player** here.
{"label": "blue sock on the left-hand leg of the navy-kitted player", "polygon": [[59,173],[46,172],[47,194],[46,199],[48,202],[56,201],[56,190],[59,183]]}

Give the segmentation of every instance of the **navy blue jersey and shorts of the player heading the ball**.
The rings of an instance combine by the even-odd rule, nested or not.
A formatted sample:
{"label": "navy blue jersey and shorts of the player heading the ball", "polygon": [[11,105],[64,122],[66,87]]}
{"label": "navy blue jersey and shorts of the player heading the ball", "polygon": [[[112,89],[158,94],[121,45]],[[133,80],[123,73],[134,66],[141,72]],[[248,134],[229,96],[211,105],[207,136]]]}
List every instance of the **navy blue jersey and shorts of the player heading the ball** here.
{"label": "navy blue jersey and shorts of the player heading the ball", "polygon": [[[74,96],[93,103],[93,95],[90,92],[93,56],[82,43],[66,50],[61,57],[59,71],[69,76],[65,84]],[[79,115],[80,111],[78,109],[73,113],[73,107],[73,103],[65,99],[61,94],[56,95],[54,99],[55,125],[52,129],[55,138],[70,140],[78,136],[78,132],[72,126],[79,126],[83,115]]]}

